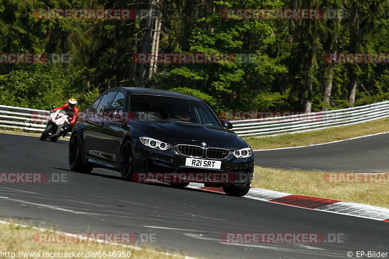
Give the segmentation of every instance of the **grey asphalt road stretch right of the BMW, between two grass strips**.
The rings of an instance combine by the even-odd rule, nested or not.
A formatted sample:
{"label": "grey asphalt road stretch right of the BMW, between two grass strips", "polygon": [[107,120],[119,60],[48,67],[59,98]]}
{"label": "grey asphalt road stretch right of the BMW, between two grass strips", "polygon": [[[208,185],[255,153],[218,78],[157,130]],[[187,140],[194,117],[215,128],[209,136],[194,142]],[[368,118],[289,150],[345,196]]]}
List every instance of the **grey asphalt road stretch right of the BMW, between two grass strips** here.
{"label": "grey asphalt road stretch right of the BMW, between two grass strips", "polygon": [[[264,147],[265,148],[265,147]],[[325,145],[255,151],[264,167],[325,172],[389,172],[389,133]]]}

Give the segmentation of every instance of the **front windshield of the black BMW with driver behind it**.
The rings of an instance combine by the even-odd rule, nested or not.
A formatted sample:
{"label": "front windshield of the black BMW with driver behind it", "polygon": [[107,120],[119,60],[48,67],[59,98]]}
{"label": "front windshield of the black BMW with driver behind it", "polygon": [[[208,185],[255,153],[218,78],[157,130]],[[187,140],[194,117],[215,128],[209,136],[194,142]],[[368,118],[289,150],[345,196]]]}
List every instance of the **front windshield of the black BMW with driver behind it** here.
{"label": "front windshield of the black BMW with driver behind it", "polygon": [[130,111],[136,119],[144,121],[181,121],[219,126],[210,108],[201,101],[158,96],[132,95]]}

